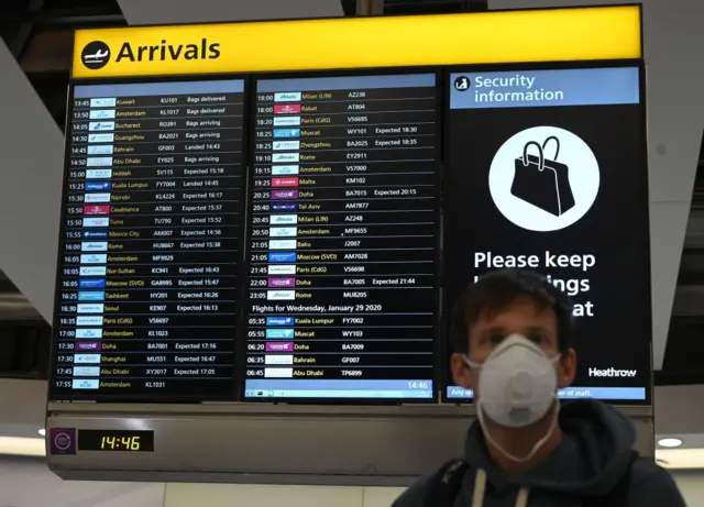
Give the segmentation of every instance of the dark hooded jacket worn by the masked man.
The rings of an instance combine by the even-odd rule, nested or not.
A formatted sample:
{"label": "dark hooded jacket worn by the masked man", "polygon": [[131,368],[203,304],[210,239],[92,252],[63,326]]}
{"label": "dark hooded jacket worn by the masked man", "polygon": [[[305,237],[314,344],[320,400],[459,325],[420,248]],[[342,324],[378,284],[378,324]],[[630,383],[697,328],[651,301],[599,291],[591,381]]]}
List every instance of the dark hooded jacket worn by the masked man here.
{"label": "dark hooded jacket worn by the masked man", "polygon": [[[670,474],[654,460],[632,461],[636,430],[615,408],[595,400],[564,403],[560,427],[566,438],[544,461],[530,471],[508,473],[492,463],[482,428],[474,422],[464,448],[470,467],[454,507],[472,506],[479,470],[486,475],[484,507],[514,507],[521,488],[528,489],[528,507],[594,505],[594,499],[612,492],[629,470],[629,503],[624,507],[686,507]],[[393,507],[425,507],[433,475],[418,480]]]}

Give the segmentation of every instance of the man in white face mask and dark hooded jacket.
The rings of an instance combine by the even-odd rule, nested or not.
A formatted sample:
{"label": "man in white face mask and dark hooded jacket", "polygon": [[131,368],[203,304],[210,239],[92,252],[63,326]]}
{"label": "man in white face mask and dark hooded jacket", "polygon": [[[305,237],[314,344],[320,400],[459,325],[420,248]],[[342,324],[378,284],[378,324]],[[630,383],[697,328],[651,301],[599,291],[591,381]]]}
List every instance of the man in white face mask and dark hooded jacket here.
{"label": "man in white face mask and dark hooded jacket", "polygon": [[685,507],[668,472],[630,450],[619,411],[557,400],[574,378],[574,333],[572,302],[540,275],[505,269],[471,285],[451,316],[450,364],[474,389],[477,421],[464,459],[394,507]]}

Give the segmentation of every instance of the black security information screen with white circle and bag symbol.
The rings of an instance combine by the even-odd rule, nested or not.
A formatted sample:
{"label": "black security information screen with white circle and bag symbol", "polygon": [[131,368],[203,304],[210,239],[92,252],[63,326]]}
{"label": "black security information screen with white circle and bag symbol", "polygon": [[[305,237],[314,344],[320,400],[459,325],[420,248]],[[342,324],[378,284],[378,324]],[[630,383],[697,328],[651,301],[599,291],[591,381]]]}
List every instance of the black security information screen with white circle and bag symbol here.
{"label": "black security information screen with white circle and bag symbol", "polygon": [[[449,75],[448,302],[502,267],[574,300],[579,374],[565,398],[650,398],[645,110],[638,67]],[[451,400],[472,397],[450,386]]]}

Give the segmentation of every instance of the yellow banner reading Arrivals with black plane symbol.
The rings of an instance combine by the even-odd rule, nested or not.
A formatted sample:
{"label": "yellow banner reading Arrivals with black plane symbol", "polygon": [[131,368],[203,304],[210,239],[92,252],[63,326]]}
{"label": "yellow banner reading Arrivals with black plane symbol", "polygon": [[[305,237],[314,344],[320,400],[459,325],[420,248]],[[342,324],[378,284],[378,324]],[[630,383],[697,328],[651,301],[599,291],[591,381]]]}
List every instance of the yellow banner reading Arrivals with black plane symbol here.
{"label": "yellow banner reading Arrivals with black plane symbol", "polygon": [[640,7],[79,30],[73,77],[640,58]]}

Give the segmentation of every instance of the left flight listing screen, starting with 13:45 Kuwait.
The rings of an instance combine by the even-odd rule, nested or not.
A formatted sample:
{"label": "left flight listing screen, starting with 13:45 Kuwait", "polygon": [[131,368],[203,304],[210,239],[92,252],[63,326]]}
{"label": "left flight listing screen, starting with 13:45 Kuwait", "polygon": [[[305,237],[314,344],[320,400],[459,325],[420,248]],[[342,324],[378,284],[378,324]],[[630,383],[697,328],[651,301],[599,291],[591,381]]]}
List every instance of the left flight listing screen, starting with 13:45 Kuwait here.
{"label": "left flight listing screen, starting with 13:45 Kuwait", "polygon": [[244,81],[76,86],[52,399],[231,398]]}

